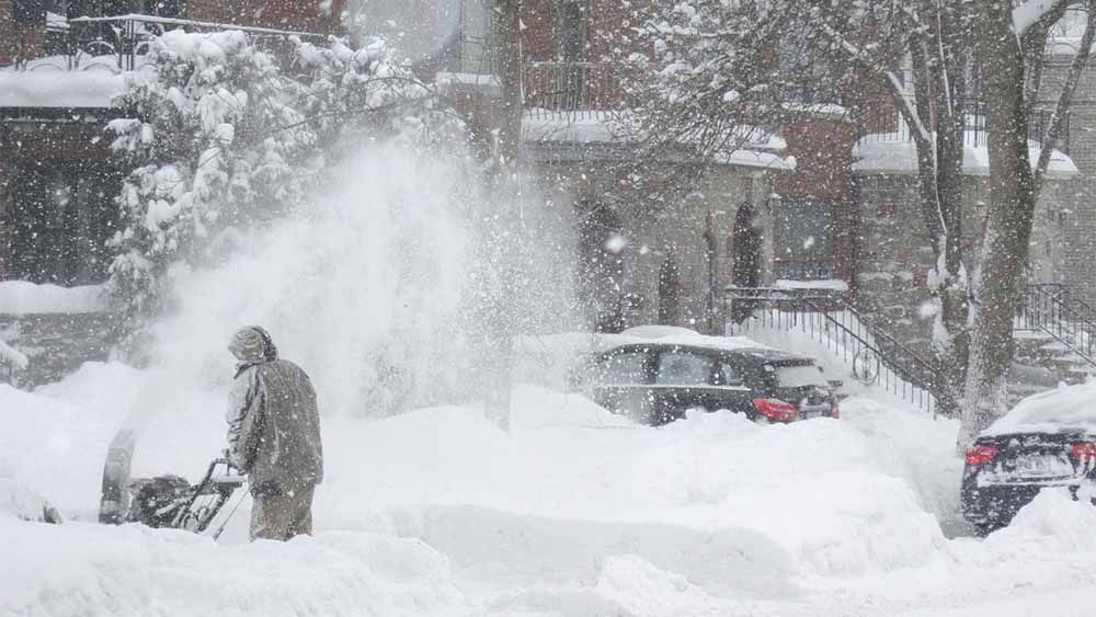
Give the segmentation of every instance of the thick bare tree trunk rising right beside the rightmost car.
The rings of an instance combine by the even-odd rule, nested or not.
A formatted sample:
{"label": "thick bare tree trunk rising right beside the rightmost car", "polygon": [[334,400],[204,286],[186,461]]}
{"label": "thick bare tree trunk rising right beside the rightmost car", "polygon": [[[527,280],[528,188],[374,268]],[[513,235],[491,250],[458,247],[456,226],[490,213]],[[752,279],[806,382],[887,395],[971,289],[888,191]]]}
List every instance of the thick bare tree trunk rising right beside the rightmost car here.
{"label": "thick bare tree trunk rising right beside the rightmost car", "polygon": [[1011,0],[984,0],[980,44],[990,150],[989,226],[967,372],[960,447],[1005,411],[1013,357],[1013,317],[1020,298],[1035,215],[1024,104],[1024,53]]}

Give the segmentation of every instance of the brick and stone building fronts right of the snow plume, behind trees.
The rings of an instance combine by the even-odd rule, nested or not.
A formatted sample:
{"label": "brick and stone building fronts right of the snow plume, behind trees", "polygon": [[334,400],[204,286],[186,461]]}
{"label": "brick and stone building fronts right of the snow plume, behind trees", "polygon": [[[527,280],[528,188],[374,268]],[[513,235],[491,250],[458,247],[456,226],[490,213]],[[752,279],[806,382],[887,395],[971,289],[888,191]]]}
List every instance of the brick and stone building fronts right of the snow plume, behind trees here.
{"label": "brick and stone building fronts right of the snow plume, behind trees", "polygon": [[[594,178],[594,191],[587,181],[572,181],[564,188],[574,203],[587,203],[585,195],[591,194],[610,203],[613,216],[607,219],[619,221],[628,238],[621,251],[624,288],[637,304],[628,324],[665,317],[658,310],[659,273],[669,250],[682,262],[683,310],[675,321],[706,328],[704,298],[722,292],[706,287],[730,282],[735,213],[741,204],[752,203],[763,228],[765,285],[843,289],[866,318],[904,342],[927,347],[932,319],[922,307],[929,298],[926,278],[933,256],[917,195],[915,151],[884,92],[865,82],[832,99],[806,101],[812,104],[767,144],[747,145],[750,156],[712,165],[708,180],[684,191],[677,203],[620,203],[613,198],[613,179],[598,171],[608,167],[603,163],[607,159],[627,158],[628,149],[601,141],[590,125],[598,123],[597,110],[623,101],[613,68],[602,64],[608,55],[602,46],[604,34],[625,26],[626,9],[613,2],[557,0],[527,0],[524,8],[527,105],[557,114],[553,132],[551,114],[540,108],[527,113],[526,152],[557,188],[568,186],[560,178]],[[1032,160],[1069,60],[1048,58],[1044,96],[1032,118]],[[553,65],[559,68],[545,80],[541,67]],[[1028,274],[1031,283],[1068,282],[1089,302],[1096,300],[1096,268],[1089,256],[1096,249],[1091,205],[1096,188],[1094,80],[1096,66],[1085,73],[1069,135],[1052,158]],[[544,91],[553,96],[540,96]],[[963,240],[973,271],[989,201],[986,114],[977,101],[966,113]],[[711,254],[713,265],[707,264],[706,255]],[[706,274],[711,271],[713,275]]]}

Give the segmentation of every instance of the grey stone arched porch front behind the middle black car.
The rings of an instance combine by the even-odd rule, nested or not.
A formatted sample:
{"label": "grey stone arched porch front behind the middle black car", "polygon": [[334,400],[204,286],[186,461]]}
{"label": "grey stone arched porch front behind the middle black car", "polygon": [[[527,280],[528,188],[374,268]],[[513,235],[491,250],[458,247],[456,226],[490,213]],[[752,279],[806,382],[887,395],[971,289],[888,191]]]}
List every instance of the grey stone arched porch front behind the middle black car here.
{"label": "grey stone arched porch front behind the middle black car", "polygon": [[[536,145],[527,148],[537,150]],[[655,202],[616,190],[615,162],[559,157],[529,161],[540,193],[573,213],[575,304],[589,310],[587,325],[619,330],[669,323],[722,332],[722,292],[731,281],[738,209],[750,203],[760,213],[760,225],[769,225],[778,208],[775,186],[789,170],[713,165],[675,198]],[[770,233],[763,237],[772,239]],[[583,265],[605,262],[610,265],[595,272]],[[772,262],[763,263],[763,276],[769,278]],[[591,276],[608,278],[584,283]],[[584,284],[603,298],[584,298]],[[600,323],[596,308],[591,308],[598,300],[618,309],[617,319]]]}

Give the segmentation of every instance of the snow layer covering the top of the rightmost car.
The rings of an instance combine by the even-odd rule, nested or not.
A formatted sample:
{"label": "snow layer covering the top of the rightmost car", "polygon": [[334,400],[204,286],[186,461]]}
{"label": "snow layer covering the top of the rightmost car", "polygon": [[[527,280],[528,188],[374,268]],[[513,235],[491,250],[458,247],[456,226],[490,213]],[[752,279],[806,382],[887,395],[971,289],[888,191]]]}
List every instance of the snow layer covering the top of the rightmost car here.
{"label": "snow layer covering the top of the rightmost car", "polygon": [[1078,430],[1096,433],[1096,382],[1064,386],[1030,396],[982,434],[994,436]]}

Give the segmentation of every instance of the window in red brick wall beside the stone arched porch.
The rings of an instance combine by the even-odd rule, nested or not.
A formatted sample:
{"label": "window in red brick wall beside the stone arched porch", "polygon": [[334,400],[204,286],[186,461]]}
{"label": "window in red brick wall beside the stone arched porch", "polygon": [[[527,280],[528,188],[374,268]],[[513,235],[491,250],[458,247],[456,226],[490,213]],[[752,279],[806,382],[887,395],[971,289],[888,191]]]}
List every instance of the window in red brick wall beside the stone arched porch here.
{"label": "window in red brick wall beside the stone arched porch", "polygon": [[773,266],[787,281],[834,278],[833,208],[817,202],[785,202],[776,217]]}

